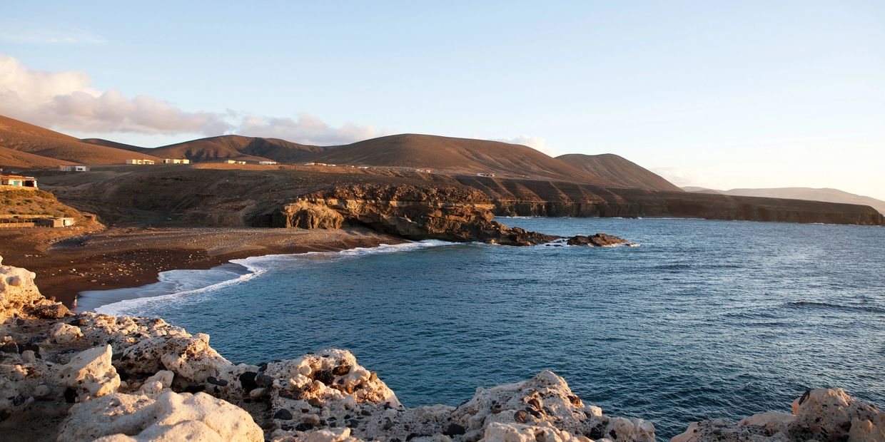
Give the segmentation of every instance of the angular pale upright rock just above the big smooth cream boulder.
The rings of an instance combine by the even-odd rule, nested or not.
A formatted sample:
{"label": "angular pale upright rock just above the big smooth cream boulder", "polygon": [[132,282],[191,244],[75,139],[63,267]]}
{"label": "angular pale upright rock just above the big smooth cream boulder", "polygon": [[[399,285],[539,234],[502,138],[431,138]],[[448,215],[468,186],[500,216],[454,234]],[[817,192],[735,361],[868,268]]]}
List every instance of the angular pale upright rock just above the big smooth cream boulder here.
{"label": "angular pale upright rock just above the big smooth cream boulder", "polygon": [[60,370],[61,385],[87,392],[90,396],[104,396],[119,388],[119,375],[111,364],[111,346],[83,350]]}

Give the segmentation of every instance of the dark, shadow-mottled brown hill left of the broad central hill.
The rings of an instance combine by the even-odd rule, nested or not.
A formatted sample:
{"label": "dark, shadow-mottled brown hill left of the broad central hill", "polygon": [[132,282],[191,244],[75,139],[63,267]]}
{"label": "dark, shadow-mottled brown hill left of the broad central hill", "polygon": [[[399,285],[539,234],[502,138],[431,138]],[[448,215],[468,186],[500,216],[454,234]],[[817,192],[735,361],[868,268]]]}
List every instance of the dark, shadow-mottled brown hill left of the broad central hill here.
{"label": "dark, shadow-mottled brown hill left of the broad central hill", "polygon": [[235,159],[242,161],[273,160],[279,163],[301,162],[324,148],[306,146],[275,138],[221,135],[147,149],[161,158],[188,158],[191,161]]}

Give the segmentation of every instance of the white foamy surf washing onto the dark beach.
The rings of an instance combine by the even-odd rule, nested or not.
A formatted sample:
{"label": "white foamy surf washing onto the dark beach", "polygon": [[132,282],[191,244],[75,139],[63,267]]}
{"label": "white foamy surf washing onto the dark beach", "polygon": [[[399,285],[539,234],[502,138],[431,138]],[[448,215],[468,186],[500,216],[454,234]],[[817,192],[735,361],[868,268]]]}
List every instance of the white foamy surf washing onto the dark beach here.
{"label": "white foamy surf washing onto the dark beach", "polygon": [[[233,286],[263,275],[267,271],[297,265],[304,260],[312,260],[317,257],[329,260],[358,258],[366,255],[378,255],[385,253],[408,252],[423,248],[436,248],[452,246],[460,243],[443,240],[422,240],[404,242],[401,244],[381,244],[374,248],[348,248],[337,252],[307,252],[302,254],[281,254],[250,256],[242,259],[232,259],[229,263],[241,265],[245,268],[242,273],[225,270],[230,264],[222,264],[218,267],[205,271],[174,270],[163,271],[158,275],[158,283],[141,287],[129,287],[119,289],[116,292],[127,293],[133,296],[129,299],[114,301],[95,308],[96,313],[104,315],[122,316],[127,314],[144,314],[150,304],[158,301],[172,301],[193,296],[195,294],[212,292],[223,287]],[[196,280],[196,286],[195,286]],[[102,291],[112,292],[112,291]],[[145,295],[147,293],[147,295]],[[90,293],[82,293],[84,301],[89,299]]]}

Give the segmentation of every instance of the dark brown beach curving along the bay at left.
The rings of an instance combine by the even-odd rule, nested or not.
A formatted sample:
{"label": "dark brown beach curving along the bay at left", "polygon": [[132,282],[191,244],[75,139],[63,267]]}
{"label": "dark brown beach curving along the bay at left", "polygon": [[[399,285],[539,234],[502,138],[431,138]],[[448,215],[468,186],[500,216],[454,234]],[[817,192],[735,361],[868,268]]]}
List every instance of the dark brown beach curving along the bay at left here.
{"label": "dark brown beach curving along the bay at left", "polygon": [[31,240],[28,232],[4,233],[14,236],[0,241],[0,255],[12,265],[27,263],[40,275],[43,295],[66,306],[81,292],[158,283],[164,271],[205,271],[254,256],[337,252],[408,242],[360,228],[129,227],[49,244]]}

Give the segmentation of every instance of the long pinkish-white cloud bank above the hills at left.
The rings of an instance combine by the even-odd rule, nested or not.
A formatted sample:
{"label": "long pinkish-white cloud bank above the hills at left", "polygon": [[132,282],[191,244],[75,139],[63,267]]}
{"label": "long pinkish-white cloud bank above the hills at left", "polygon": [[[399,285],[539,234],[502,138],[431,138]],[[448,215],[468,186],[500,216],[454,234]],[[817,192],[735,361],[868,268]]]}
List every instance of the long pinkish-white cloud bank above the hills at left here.
{"label": "long pinkish-white cloud bank above the hills at left", "polygon": [[84,72],[28,69],[0,54],[0,115],[58,130],[91,133],[241,133],[305,144],[346,144],[386,134],[351,123],[333,127],[309,114],[259,117],[245,112],[189,112],[147,96],[129,98],[91,86]]}

